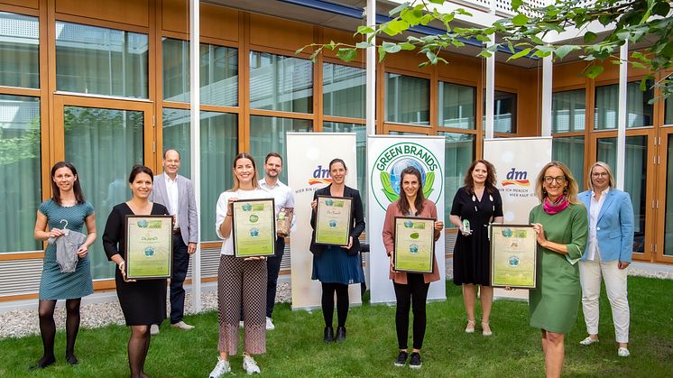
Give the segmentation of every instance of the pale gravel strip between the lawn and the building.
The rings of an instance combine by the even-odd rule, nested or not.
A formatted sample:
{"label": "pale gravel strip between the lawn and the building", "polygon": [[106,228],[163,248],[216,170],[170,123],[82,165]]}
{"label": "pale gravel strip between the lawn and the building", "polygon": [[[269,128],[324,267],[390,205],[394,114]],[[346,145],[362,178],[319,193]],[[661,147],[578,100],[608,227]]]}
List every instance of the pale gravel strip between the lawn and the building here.
{"label": "pale gravel strip between the lawn and the building", "polygon": [[[453,269],[447,264],[447,280],[453,278]],[[629,268],[629,275],[673,280],[673,272],[650,272]],[[276,301],[290,303],[292,299],[290,282],[280,283],[276,294]],[[201,293],[201,306],[204,311],[217,309],[217,291],[211,290]],[[185,312],[192,313],[190,294],[188,290],[185,300]],[[124,325],[124,315],[118,302],[90,303],[80,309],[81,327],[97,328],[108,324]],[[58,306],[54,312],[57,329],[65,329],[65,307]],[[40,333],[37,311],[19,309],[0,314],[0,339],[5,337],[25,337]]]}

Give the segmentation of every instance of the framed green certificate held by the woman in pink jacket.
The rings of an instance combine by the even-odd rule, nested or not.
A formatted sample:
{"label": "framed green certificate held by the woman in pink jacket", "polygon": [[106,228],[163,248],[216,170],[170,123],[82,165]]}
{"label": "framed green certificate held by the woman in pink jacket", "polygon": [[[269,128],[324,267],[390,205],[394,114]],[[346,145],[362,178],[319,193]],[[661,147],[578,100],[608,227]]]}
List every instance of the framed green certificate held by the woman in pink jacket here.
{"label": "framed green certificate held by the woman in pink jacket", "polygon": [[435,219],[395,217],[392,266],[396,271],[429,273],[435,256]]}

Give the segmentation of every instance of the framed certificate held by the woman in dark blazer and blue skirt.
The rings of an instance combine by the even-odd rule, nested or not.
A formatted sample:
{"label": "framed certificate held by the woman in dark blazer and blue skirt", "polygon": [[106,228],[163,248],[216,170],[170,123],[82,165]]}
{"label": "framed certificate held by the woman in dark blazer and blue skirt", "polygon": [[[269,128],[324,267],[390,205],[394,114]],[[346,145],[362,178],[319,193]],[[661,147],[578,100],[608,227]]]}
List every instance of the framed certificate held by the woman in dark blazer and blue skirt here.
{"label": "framed certificate held by the woman in dark blazer and blue skirt", "polygon": [[316,244],[348,245],[353,198],[318,196]]}

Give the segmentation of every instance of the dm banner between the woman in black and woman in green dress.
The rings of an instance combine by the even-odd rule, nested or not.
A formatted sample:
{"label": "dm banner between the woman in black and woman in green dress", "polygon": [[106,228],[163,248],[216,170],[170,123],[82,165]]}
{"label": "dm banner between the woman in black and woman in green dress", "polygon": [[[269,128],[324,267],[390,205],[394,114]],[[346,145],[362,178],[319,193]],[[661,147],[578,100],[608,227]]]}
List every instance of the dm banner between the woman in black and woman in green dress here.
{"label": "dm banner between the woman in black and woman in green dress", "polygon": [[[551,137],[486,139],[484,160],[490,161],[497,173],[504,223],[528,225],[530,209],[539,204],[535,180],[551,161]],[[528,290],[496,289],[493,296],[528,300]]]}

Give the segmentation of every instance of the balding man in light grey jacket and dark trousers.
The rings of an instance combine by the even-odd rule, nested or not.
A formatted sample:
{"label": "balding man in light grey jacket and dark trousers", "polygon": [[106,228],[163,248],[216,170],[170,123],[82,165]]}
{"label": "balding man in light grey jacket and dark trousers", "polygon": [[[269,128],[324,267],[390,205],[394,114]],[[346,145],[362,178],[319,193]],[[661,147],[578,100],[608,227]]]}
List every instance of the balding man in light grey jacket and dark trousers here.
{"label": "balding man in light grey jacket and dark trousers", "polygon": [[[194,186],[191,180],[180,176],[180,152],[163,152],[163,173],[154,177],[150,201],[169,209],[173,225],[173,274],[171,276],[171,327],[192,329],[182,318],[185,314],[185,290],[182,287],[189,256],[197,251],[198,214]],[[159,333],[159,326],[152,325],[152,335]]]}

